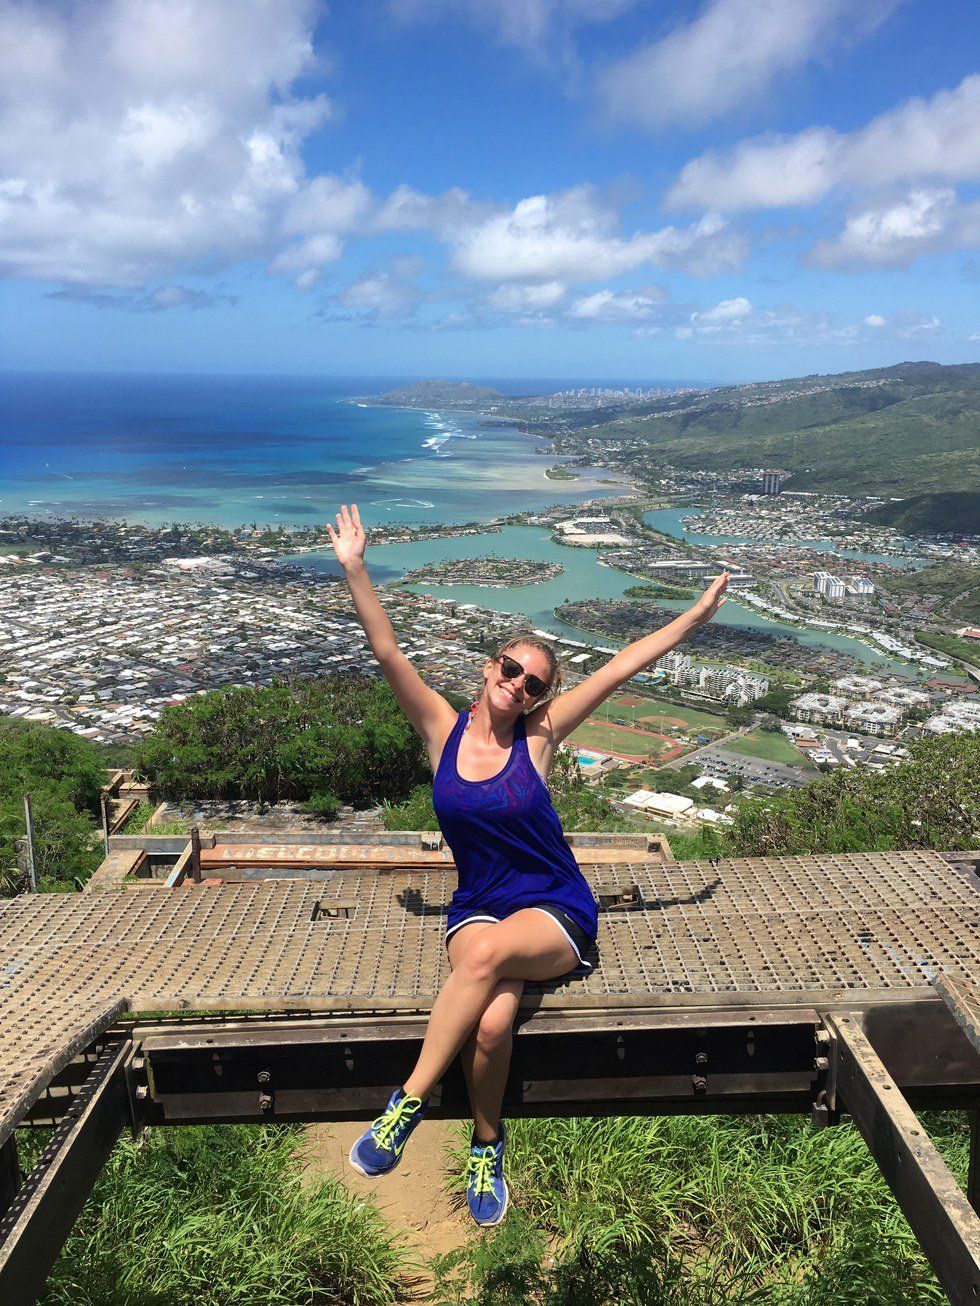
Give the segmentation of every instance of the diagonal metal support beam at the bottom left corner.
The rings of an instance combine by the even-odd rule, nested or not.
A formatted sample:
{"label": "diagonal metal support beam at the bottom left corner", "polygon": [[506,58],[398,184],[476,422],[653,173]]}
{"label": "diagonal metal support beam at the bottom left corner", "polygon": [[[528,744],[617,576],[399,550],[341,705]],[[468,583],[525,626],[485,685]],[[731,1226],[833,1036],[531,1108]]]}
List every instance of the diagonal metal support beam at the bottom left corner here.
{"label": "diagonal metal support beam at the bottom left corner", "polygon": [[129,1121],[128,1043],[108,1047],[0,1220],[0,1302],[30,1306]]}

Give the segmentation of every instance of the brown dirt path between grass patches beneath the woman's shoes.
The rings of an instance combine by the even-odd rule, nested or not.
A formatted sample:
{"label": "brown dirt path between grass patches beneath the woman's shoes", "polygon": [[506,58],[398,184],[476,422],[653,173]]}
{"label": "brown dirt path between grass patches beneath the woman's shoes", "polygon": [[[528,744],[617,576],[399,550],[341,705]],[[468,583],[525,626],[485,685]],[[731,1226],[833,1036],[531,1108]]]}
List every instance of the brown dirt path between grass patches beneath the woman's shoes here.
{"label": "brown dirt path between grass patches beneath the woman's shoes", "polygon": [[[422,1121],[399,1168],[379,1179],[366,1179],[348,1162],[350,1147],[365,1128],[363,1122],[311,1124],[306,1130],[304,1177],[333,1174],[350,1192],[374,1198],[392,1229],[405,1230],[412,1251],[422,1262],[455,1251],[468,1241],[476,1226],[465,1208],[453,1211],[452,1199],[444,1192],[446,1144],[455,1122]],[[431,1279],[425,1277],[418,1289],[421,1299],[430,1288]]]}

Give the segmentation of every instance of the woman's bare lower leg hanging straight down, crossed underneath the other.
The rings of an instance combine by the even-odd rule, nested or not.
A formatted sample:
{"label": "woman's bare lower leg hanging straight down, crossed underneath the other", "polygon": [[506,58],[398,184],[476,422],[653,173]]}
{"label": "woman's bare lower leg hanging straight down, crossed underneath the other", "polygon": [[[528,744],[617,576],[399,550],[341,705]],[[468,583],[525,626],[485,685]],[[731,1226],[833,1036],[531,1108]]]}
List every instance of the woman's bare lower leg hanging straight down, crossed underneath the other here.
{"label": "woman's bare lower leg hanging straight down, crossed underneath the other", "polygon": [[[449,939],[449,964],[453,969],[472,938],[485,930],[483,922],[464,925]],[[495,1139],[500,1130],[500,1106],[511,1068],[514,1047],[514,1021],[517,1016],[523,980],[500,980],[490,994],[490,1002],[460,1049],[460,1064],[473,1109],[473,1126],[481,1141]]]}

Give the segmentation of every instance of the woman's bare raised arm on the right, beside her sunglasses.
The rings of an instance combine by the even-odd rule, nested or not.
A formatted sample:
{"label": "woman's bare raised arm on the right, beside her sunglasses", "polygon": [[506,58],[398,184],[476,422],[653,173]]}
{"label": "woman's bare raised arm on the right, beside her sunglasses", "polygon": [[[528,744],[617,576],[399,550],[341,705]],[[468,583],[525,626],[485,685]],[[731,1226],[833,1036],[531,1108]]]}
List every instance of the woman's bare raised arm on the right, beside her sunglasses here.
{"label": "woman's bare raised arm on the right, beside her sunglasses", "polygon": [[605,703],[609,695],[615,693],[631,675],[643,671],[651,662],[656,662],[670,649],[677,648],[693,631],[710,622],[725,602],[727,586],[728,572],[723,572],[704,590],[694,607],[659,631],[627,644],[625,649],[610,657],[605,666],[593,671],[574,690],[566,690],[557,699],[542,703],[540,708],[529,713],[531,721],[550,737],[551,747],[557,748],[591,712],[596,710],[600,703]]}

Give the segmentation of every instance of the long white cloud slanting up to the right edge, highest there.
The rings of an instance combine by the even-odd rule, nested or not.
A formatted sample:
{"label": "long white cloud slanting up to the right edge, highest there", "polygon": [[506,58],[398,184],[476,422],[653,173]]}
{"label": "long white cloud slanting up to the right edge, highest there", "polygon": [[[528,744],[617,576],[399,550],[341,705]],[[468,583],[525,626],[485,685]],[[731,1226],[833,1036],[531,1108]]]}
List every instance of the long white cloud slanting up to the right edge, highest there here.
{"label": "long white cloud slanting up to the right edge, highest there", "polygon": [[687,163],[666,196],[674,209],[772,209],[831,191],[980,179],[980,74],[932,99],[909,99],[855,132],[810,127],[741,141]]}

